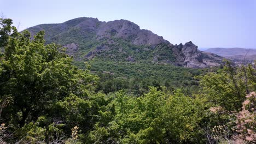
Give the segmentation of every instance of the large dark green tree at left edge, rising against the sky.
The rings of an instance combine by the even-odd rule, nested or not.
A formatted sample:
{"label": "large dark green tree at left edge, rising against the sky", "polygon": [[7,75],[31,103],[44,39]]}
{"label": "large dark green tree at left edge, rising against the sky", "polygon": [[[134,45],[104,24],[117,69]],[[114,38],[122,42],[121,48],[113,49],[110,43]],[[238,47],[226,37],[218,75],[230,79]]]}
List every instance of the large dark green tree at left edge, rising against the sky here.
{"label": "large dark green tree at left edge, rising against the sky", "polygon": [[61,46],[45,45],[43,31],[31,40],[28,31],[18,33],[10,27],[11,20],[2,23],[6,24],[1,26],[5,50],[0,59],[0,98],[13,98],[13,104],[2,113],[5,122],[22,127],[47,115],[53,104],[69,95],[88,97],[96,76],[72,65],[72,58]]}

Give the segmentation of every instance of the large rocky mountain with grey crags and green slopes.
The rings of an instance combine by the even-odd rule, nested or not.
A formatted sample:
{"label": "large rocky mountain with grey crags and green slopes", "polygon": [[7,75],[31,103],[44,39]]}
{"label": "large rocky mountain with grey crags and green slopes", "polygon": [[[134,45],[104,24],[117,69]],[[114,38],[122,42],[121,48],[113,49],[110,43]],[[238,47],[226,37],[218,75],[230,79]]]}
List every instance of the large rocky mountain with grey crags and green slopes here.
{"label": "large rocky mountain with grey crags and green slopes", "polygon": [[173,45],[127,20],[102,22],[79,17],[28,28],[32,35],[42,30],[45,31],[46,43],[67,47],[67,53],[75,61],[154,62],[189,68],[217,66],[222,62],[222,57],[197,50],[191,41]]}

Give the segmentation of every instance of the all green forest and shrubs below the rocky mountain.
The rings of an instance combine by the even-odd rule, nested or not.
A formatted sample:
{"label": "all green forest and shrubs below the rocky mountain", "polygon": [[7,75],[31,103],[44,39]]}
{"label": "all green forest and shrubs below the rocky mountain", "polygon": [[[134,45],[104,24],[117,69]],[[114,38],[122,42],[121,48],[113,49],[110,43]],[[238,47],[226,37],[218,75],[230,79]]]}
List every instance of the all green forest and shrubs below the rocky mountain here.
{"label": "all green forest and shrubs below the rocky mountain", "polygon": [[256,143],[255,65],[78,63],[12,24],[0,19],[0,143]]}

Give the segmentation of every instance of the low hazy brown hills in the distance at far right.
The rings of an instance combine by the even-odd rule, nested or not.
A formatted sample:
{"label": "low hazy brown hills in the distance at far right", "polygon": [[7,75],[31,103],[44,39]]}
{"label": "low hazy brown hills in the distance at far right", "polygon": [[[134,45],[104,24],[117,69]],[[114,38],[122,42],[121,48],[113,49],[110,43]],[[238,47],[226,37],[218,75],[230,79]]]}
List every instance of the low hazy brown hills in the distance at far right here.
{"label": "low hazy brown hills in the distance at far right", "polygon": [[256,49],[243,48],[211,48],[205,50],[206,52],[215,53],[235,62],[253,62],[256,60]]}

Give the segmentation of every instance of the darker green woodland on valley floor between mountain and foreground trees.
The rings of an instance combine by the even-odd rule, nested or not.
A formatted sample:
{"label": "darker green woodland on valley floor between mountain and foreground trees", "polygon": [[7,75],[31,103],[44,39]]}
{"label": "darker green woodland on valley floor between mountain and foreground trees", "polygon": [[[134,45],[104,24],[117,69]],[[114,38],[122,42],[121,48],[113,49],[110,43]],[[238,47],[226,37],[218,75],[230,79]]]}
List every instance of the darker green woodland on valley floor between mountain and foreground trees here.
{"label": "darker green woodland on valley floor between mountain and foreground trees", "polygon": [[152,62],[103,62],[95,59],[89,63],[91,72],[100,77],[98,90],[109,93],[124,89],[126,92],[138,96],[143,92],[148,92],[148,86],[158,88],[165,86],[170,91],[182,88],[184,93],[191,94],[199,85],[193,77],[204,73],[200,69]]}

